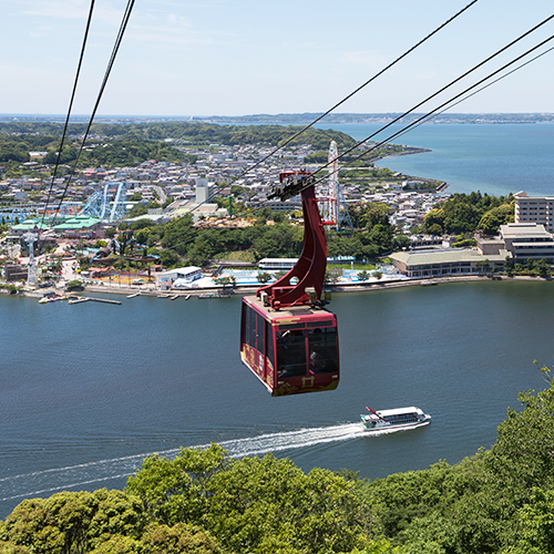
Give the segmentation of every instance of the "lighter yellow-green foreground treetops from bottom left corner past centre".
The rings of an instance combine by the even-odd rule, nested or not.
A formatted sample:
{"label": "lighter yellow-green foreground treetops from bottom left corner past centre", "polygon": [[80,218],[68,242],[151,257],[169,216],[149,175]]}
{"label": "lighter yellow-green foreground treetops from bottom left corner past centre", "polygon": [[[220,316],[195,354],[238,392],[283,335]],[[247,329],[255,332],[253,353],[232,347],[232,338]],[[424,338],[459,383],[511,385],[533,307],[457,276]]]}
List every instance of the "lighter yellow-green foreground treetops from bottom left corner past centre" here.
{"label": "lighter yellow-green foreground treetops from bottom left corner past centre", "polygon": [[0,552],[351,552],[368,544],[355,484],[290,460],[230,460],[218,445],[147,458],[127,489],[23,501]]}

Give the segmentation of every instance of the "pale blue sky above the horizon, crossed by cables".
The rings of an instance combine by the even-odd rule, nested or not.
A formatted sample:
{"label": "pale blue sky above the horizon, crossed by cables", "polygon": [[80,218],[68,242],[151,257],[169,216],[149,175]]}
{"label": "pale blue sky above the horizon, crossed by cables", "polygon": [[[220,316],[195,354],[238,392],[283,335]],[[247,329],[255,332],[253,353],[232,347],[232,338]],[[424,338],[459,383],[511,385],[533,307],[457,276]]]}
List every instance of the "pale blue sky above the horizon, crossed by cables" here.
{"label": "pale blue sky above the horizon, crossed by cables", "polygon": [[[469,1],[136,0],[99,114],[326,111]],[[125,6],[95,2],[75,114],[92,111]],[[65,113],[89,7],[0,0],[0,113]],[[338,111],[409,110],[552,13],[552,0],[479,0]],[[554,20],[478,75],[552,34]],[[455,111],[554,112],[553,66],[554,52]]]}

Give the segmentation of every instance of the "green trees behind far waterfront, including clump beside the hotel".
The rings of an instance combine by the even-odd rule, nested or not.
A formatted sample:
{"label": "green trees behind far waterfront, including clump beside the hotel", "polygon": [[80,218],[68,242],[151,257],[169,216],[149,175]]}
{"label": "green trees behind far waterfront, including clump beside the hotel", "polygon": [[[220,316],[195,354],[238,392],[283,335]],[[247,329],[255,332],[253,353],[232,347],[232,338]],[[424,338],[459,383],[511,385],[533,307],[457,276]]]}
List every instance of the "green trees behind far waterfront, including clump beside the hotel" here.
{"label": "green trees behind far waterfront, including clump beside the hotel", "polygon": [[[235,195],[240,196],[240,187]],[[227,202],[216,197],[222,206]],[[513,198],[482,195],[481,193],[454,194],[432,209],[423,224],[412,233],[432,235],[455,234],[455,247],[474,245],[473,234],[496,233],[500,225],[513,222]],[[257,261],[261,258],[298,257],[302,249],[304,227],[296,217],[273,213],[269,208],[255,212],[233,201],[233,213],[253,218],[254,225],[239,228],[201,229],[192,215],[155,225],[148,219],[120,224],[120,232],[133,230],[136,243],[148,246],[150,254],[160,255],[165,267],[178,267],[187,261],[203,266],[211,259]],[[336,233],[327,230],[328,256],[353,256],[358,261],[375,260],[379,256],[408,248],[409,236],[390,224],[390,206],[381,202],[358,203],[349,207],[355,230]],[[266,225],[267,223],[271,225]],[[514,269],[514,268],[512,268]],[[521,273],[522,268],[520,268]]]}

